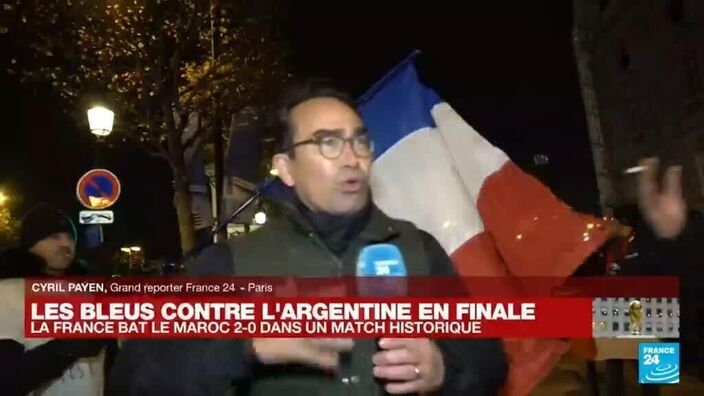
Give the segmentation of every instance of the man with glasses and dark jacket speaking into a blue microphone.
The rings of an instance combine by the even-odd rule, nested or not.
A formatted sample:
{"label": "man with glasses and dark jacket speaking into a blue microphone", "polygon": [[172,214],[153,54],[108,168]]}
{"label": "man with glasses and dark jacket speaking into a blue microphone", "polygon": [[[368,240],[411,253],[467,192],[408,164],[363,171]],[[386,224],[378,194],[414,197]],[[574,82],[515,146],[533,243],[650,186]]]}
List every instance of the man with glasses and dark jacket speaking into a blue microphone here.
{"label": "man with glasses and dark jacket speaking into a blue microphone", "polygon": [[[360,250],[375,243],[396,245],[411,276],[454,275],[430,234],[372,202],[373,144],[346,95],[305,85],[285,97],[278,121],[283,215],[210,247],[191,275],[353,276]],[[238,395],[494,395],[507,370],[498,340],[392,338],[143,341],[128,343],[116,366],[121,395],[222,395],[231,385]]]}

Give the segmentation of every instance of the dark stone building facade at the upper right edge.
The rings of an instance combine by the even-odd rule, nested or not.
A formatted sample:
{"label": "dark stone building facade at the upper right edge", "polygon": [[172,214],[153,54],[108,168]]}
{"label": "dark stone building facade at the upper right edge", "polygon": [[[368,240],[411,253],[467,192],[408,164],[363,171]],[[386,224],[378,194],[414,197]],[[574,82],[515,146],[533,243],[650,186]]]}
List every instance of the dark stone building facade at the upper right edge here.
{"label": "dark stone building facade at the upper right edge", "polygon": [[686,198],[704,210],[704,1],[574,5],[589,128],[600,132],[592,147],[604,153],[595,166],[611,181],[609,204],[635,202],[634,176],[624,171],[655,155],[683,166]]}

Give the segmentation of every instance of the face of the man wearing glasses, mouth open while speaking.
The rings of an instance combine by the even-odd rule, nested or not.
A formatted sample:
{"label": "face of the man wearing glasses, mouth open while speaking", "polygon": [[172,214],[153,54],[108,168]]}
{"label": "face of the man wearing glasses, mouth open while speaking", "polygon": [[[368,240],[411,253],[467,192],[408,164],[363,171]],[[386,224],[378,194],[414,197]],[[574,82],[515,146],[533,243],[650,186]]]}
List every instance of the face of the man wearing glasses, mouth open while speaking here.
{"label": "face of the man wearing glasses, mouth open while speaking", "polygon": [[[352,214],[361,210],[369,200],[372,158],[371,152],[360,148],[364,147],[360,142],[365,141],[366,133],[357,113],[337,99],[316,98],[294,107],[290,124],[294,144],[309,139],[330,144],[323,143],[327,147],[322,148],[302,144],[290,154],[277,155],[274,164],[284,183],[314,211]],[[339,138],[353,137],[356,149],[350,141],[340,143]],[[332,148],[335,144],[342,144],[341,152]]]}

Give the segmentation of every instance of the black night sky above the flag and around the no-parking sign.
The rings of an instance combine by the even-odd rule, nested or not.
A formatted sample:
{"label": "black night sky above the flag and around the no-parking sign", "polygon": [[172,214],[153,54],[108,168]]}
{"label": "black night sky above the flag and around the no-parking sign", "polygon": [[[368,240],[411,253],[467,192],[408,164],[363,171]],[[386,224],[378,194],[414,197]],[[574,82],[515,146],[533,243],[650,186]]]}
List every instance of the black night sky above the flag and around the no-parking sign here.
{"label": "black night sky above the flag and around the no-parking sign", "polygon": [[[518,165],[540,172],[565,202],[597,210],[571,1],[292,3],[287,35],[298,74],[332,78],[359,95],[419,49],[422,78],[470,124]],[[32,92],[2,74],[0,84],[0,185],[21,197],[20,209],[48,201],[77,216],[75,184],[94,164],[94,137],[62,114],[48,90]],[[129,147],[103,153],[123,183],[107,240],[138,242],[150,258],[175,256],[168,167]],[[538,153],[550,158],[541,170],[532,165]]]}

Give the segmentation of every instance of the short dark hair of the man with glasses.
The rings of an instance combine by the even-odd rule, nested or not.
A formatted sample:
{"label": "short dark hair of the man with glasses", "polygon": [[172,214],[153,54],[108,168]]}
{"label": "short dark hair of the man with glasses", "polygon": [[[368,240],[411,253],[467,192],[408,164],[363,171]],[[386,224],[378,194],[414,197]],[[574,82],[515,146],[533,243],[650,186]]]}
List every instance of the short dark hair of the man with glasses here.
{"label": "short dark hair of the man with glasses", "polygon": [[[317,98],[337,99],[357,111],[352,97],[327,79],[311,78],[291,83],[279,97],[274,116],[274,127],[280,133],[279,152],[286,152],[293,144],[291,110],[303,102]],[[293,153],[291,155],[293,156]]]}

